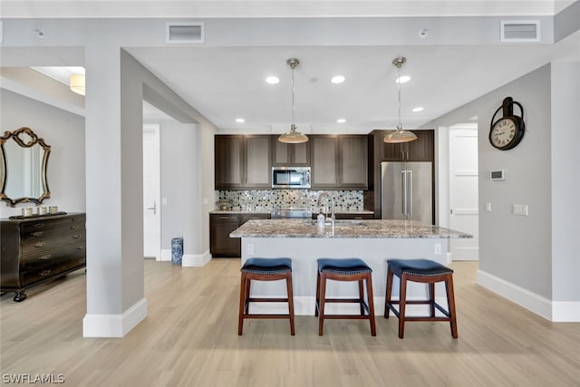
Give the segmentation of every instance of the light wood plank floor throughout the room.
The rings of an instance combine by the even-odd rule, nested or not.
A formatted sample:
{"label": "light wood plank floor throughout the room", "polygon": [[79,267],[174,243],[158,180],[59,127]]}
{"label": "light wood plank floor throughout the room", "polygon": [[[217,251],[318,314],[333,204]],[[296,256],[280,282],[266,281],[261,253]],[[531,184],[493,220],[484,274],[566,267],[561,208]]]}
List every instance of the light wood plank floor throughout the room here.
{"label": "light wood plank floor throughout the room", "polygon": [[239,260],[145,262],[149,316],[122,339],[82,338],[82,271],[1,299],[5,374],[63,374],[71,386],[580,386],[580,324],[551,324],[475,284],[454,263],[459,340],[447,323],[314,316],[249,320],[237,335]]}

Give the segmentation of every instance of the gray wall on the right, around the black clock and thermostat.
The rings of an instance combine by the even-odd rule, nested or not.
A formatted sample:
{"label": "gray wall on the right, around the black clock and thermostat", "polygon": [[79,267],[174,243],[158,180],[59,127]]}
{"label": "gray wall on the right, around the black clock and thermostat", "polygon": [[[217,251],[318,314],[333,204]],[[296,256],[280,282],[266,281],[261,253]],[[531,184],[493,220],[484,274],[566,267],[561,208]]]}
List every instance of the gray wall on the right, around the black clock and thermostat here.
{"label": "gray wall on the right, around the black clock and thermostat", "polygon": [[[548,64],[426,124],[478,116],[479,269],[552,301],[580,300],[579,69],[574,61]],[[524,106],[526,134],[500,151],[489,144],[489,123],[507,96]],[[506,169],[507,179],[490,181],[495,169]],[[529,216],[513,215],[515,203],[527,204]]]}

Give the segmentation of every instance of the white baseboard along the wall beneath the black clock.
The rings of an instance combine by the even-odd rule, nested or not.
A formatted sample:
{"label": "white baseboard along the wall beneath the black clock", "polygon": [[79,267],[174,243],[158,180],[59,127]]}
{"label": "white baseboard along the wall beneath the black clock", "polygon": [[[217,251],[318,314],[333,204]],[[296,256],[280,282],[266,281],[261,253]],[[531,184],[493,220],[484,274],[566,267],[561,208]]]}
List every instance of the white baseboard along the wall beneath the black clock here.
{"label": "white baseboard along the wall beneath the black clock", "polygon": [[493,276],[482,270],[478,270],[478,284],[491,290],[517,305],[525,307],[546,320],[552,319],[552,301],[541,295],[536,295],[529,290],[507,282],[505,279]]}

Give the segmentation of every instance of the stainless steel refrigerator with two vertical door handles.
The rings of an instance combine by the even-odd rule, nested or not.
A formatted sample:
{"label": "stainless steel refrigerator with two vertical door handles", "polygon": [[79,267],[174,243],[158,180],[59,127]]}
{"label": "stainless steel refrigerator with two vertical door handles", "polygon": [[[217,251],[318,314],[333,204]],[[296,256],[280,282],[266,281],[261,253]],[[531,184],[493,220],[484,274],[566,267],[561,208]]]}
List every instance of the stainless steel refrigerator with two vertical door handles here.
{"label": "stainless steel refrigerator with two vertical door handles", "polygon": [[381,218],[433,224],[433,176],[430,162],[381,163]]}

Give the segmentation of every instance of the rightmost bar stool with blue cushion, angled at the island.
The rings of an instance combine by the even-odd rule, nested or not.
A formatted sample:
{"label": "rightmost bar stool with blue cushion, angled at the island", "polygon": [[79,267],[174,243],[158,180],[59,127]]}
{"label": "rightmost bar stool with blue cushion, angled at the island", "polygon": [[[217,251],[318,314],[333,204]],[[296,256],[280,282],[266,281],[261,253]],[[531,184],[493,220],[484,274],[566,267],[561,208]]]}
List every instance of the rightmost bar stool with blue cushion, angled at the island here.
{"label": "rightmost bar stool with blue cushion, angled at the island", "polygon": [[[385,297],[384,318],[389,318],[389,311],[399,318],[399,337],[405,334],[406,321],[449,321],[451,335],[457,339],[457,319],[455,314],[455,295],[453,295],[453,270],[430,259],[389,259],[387,260],[387,295]],[[401,280],[399,300],[392,301],[392,278],[398,276]],[[428,300],[407,301],[407,281],[429,285]],[[445,282],[447,293],[447,310],[435,302],[435,284]],[[430,305],[429,317],[408,317],[405,315],[406,305]],[[397,311],[393,305],[399,305]],[[444,316],[435,316],[435,308]]]}

